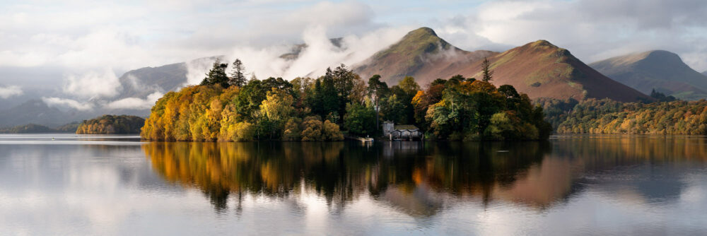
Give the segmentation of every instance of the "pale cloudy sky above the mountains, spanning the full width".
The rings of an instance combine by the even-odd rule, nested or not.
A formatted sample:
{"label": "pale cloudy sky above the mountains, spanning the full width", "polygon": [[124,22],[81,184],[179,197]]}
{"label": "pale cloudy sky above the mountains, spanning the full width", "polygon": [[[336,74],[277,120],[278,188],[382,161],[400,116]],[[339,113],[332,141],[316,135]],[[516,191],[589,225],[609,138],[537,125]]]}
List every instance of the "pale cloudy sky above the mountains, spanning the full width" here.
{"label": "pale cloudy sky above the mountains, spanning the full width", "polygon": [[[119,102],[125,71],[214,55],[242,58],[259,77],[294,78],[366,59],[422,26],[466,50],[542,39],[590,63],[666,49],[707,70],[703,0],[2,1],[0,102],[47,90],[45,102],[86,110],[88,100]],[[277,59],[301,42],[314,45],[305,59]],[[203,67],[190,68],[189,83]]]}

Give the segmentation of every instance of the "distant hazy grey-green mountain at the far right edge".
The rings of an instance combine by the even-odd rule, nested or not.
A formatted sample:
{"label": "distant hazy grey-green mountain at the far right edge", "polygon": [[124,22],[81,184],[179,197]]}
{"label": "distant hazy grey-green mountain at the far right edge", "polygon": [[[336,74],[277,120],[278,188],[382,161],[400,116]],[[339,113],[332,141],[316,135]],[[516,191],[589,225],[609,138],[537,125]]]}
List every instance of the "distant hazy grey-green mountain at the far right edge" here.
{"label": "distant hazy grey-green mountain at the far right edge", "polygon": [[707,98],[707,76],[691,69],[672,52],[655,50],[628,54],[590,66],[643,93],[655,89],[684,100]]}

